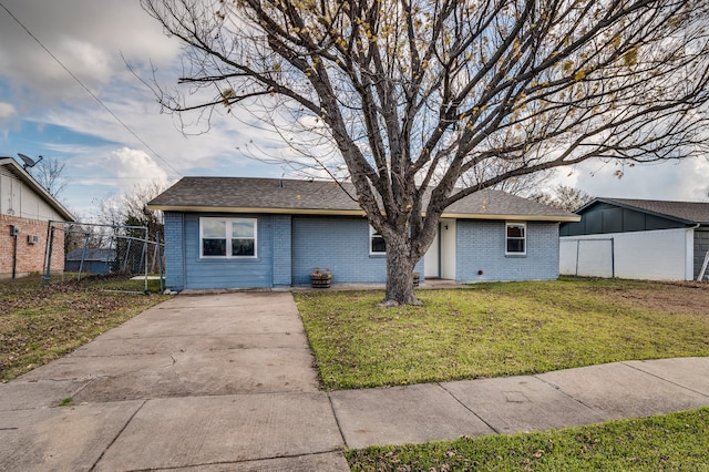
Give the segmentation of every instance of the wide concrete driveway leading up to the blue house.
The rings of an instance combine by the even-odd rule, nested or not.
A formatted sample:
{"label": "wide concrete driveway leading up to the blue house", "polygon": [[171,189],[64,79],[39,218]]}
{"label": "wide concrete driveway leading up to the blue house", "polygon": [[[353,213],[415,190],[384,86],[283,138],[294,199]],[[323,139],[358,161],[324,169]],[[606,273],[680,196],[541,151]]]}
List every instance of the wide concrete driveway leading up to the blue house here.
{"label": "wide concrete driveway leading up to the blue house", "polygon": [[349,470],[342,447],[288,293],[181,295],[0,386],[0,470]]}

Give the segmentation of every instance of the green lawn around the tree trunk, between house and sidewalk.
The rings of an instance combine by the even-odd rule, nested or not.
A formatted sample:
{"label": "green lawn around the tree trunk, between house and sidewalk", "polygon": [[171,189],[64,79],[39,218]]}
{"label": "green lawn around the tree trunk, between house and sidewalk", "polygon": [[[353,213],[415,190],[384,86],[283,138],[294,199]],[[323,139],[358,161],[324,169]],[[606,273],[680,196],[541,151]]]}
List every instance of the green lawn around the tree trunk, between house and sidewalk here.
{"label": "green lawn around the tree trunk, between house and sidewalk", "polygon": [[709,286],[567,278],[418,295],[383,308],[381,291],[296,294],[326,389],[709,356]]}

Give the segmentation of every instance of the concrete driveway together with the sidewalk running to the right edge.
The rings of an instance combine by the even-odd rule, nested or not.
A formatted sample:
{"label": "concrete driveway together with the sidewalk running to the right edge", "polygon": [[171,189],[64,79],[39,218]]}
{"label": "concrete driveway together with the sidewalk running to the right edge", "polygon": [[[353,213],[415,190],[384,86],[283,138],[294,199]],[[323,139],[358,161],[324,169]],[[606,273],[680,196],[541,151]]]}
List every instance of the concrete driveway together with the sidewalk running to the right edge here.
{"label": "concrete driveway together with the sidewalk running to the right edge", "polygon": [[290,294],[181,295],[0,384],[0,470],[347,471],[342,448],[702,406],[709,358],[328,394]]}

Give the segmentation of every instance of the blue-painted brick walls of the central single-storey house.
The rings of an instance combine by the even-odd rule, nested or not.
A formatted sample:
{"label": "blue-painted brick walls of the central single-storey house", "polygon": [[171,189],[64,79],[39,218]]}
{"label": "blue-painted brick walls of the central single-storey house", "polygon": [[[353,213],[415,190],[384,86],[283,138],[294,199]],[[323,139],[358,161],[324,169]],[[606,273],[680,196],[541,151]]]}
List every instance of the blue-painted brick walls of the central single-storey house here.
{"label": "blue-painted brick walls of the central single-storey house", "polygon": [[[257,220],[254,258],[202,258],[201,217]],[[505,222],[459,219],[455,279],[538,280],[558,277],[558,224],[527,223],[525,256],[505,256]],[[370,254],[367,218],[282,214],[165,212],[166,285],[172,290],[271,288],[309,284],[315,267],[333,284],[381,284],[387,259]],[[423,274],[423,258],[417,271]],[[479,270],[483,274],[479,275]]]}

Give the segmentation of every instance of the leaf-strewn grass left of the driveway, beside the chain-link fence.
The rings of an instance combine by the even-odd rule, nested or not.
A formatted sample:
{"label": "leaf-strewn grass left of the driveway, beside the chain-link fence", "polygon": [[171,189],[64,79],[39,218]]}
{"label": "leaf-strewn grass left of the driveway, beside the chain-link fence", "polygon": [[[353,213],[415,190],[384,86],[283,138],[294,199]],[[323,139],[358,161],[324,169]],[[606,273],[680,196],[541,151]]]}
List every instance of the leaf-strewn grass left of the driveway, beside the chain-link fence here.
{"label": "leaf-strewn grass left of the driveway, beside the chain-link fence", "polygon": [[[39,276],[0,280],[0,382],[89,342],[167,299],[144,295],[144,281],[66,278],[48,287]],[[156,290],[156,281],[151,281]]]}

